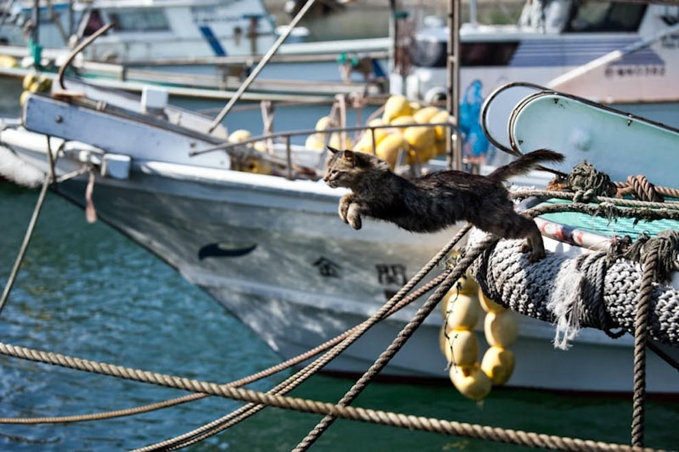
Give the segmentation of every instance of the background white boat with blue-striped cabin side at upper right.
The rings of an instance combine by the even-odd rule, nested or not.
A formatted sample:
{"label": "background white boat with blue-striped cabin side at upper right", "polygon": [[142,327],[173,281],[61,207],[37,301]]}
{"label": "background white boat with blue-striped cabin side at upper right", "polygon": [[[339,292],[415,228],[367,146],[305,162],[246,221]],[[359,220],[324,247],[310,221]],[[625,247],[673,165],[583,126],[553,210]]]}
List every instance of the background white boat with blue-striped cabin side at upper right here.
{"label": "background white boat with blue-striped cabin side at upper right", "polygon": [[[481,25],[475,23],[473,11],[472,21],[460,28],[457,58],[467,158],[492,158],[494,150],[479,124],[481,104],[495,88],[514,81],[547,86],[679,127],[676,7],[534,1],[527,3],[516,25]],[[450,37],[441,21],[418,29],[411,38],[409,58],[396,60],[390,91],[425,102],[445,99]]]}

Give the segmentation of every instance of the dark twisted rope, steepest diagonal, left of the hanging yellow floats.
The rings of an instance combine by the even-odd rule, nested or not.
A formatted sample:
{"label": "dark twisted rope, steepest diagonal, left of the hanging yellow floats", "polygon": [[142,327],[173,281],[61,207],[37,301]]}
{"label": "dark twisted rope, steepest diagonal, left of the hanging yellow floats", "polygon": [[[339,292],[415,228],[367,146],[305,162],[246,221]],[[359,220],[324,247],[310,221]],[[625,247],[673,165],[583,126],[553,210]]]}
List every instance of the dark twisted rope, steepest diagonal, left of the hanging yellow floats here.
{"label": "dark twisted rope, steepest diagonal, left of the hanging yellow floats", "polygon": [[[481,252],[488,248],[492,243],[495,243],[497,239],[495,237],[490,237],[484,241],[481,241],[481,243],[478,243],[476,246],[471,248],[470,250],[466,250],[466,254],[460,261],[458,261],[455,264],[455,267],[453,267],[453,271],[451,274],[449,274],[445,281],[441,283],[441,285],[436,289],[436,292],[434,292],[428,299],[427,301],[418,309],[416,312],[414,318],[408,322],[403,329],[401,329],[401,332],[398,333],[398,336],[388,346],[386,350],[379,355],[376,361],[368,368],[368,370],[361,376],[361,378],[354,383],[354,385],[350,388],[346,394],[340,399],[338,405],[341,406],[346,406],[350,404],[360,393],[364,388],[366,388],[366,385],[372,381],[372,379],[389,363],[389,361],[396,355],[398,350],[403,347],[405,342],[409,339],[409,337],[418,329],[420,324],[425,321],[425,318],[429,315],[432,309],[436,307],[438,302],[443,298],[443,296],[453,287],[453,285],[457,282],[458,279],[462,277],[464,272],[466,271],[467,267],[476,259],[479,257]],[[311,447],[311,444],[315,442],[315,440],[318,439],[320,435],[328,428],[332,423],[335,421],[336,416],[328,415],[325,416],[320,423],[318,423],[313,430],[311,430],[307,436],[300,442],[300,444],[297,445],[297,447],[294,449],[295,451],[305,451]]]}

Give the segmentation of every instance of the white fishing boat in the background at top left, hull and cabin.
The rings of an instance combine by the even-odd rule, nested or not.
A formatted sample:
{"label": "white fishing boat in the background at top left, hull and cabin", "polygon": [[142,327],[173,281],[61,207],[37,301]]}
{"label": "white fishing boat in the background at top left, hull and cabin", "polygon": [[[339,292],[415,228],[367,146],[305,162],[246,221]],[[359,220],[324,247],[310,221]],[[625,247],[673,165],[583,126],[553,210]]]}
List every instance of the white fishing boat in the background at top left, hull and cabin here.
{"label": "white fishing boat in the background at top left, hull and cabin", "polygon": [[[32,5],[14,3],[1,16],[0,43],[6,43],[0,45],[1,77],[35,73],[37,58],[40,73],[55,78],[76,43],[110,25],[78,53],[72,70],[93,84],[134,93],[145,84],[164,86],[174,102],[189,99],[191,108],[218,106],[231,97],[278,33],[287,32],[287,25],[274,31],[261,1],[97,0],[41,3],[35,10]],[[388,38],[305,43],[299,37],[303,31],[291,29],[248,99],[313,101],[338,93],[385,92],[379,59],[387,56]],[[361,74],[342,80],[341,55],[370,60],[370,80]],[[191,104],[195,99],[202,104]]]}

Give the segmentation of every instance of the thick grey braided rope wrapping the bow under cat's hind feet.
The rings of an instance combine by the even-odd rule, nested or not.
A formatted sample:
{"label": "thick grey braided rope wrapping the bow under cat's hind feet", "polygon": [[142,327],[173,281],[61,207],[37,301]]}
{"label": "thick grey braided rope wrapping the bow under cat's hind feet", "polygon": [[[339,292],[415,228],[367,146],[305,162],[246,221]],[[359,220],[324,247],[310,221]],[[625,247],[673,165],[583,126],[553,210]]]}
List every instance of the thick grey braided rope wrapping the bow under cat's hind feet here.
{"label": "thick grey braided rope wrapping the bow under cat's hind feet", "polygon": [[[475,238],[472,237],[472,241]],[[565,298],[558,293],[559,281],[571,287],[601,285],[597,282],[597,272],[577,270],[577,262],[582,258],[569,258],[549,253],[532,265],[526,265],[521,253],[521,241],[501,241],[494,250],[484,253],[471,268],[471,273],[486,296],[513,311],[545,322],[563,324],[560,331],[577,333],[577,329],[591,327],[596,329],[622,328],[634,334],[636,315],[636,294],[639,293],[642,274],[636,263],[618,259],[608,267],[601,288],[602,297],[587,298],[586,292],[573,292]],[[593,268],[598,261],[604,261],[604,253],[595,254]],[[679,291],[672,287],[654,285],[654,296],[650,305],[648,335],[658,342],[679,346]],[[567,293],[568,294],[568,293]],[[568,301],[571,303],[568,303]],[[551,302],[566,303],[564,309],[555,311]],[[559,306],[556,305],[556,306]],[[601,313],[605,312],[605,316]],[[567,338],[568,339],[568,338]]]}

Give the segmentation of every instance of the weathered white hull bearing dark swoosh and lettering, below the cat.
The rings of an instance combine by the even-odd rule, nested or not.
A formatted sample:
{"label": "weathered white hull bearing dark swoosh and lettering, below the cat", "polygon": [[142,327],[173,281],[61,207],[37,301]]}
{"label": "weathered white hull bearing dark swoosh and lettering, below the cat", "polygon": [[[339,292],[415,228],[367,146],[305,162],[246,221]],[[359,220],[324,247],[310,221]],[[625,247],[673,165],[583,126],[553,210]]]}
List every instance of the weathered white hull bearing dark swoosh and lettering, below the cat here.
{"label": "weathered white hull bearing dark swoosh and lettering, below the cat", "polygon": [[[44,149],[27,150],[21,141],[12,149],[45,169]],[[64,183],[60,194],[84,204],[84,180]],[[176,267],[289,358],[377,311],[387,299],[385,290],[395,291],[402,282],[398,265],[412,276],[454,232],[415,235],[370,221],[355,231],[337,218],[341,194],[319,182],[138,161],[128,180],[97,178],[94,202],[100,219]],[[199,251],[210,243],[241,255],[200,259]],[[337,265],[337,276],[321,274],[322,259]],[[387,270],[381,281],[379,269]],[[397,283],[388,283],[387,276]],[[379,323],[326,370],[363,372],[415,309]],[[632,390],[631,337],[614,341],[586,330],[570,350],[561,351],[551,344],[551,325],[529,318],[519,323],[520,337],[512,346],[517,364],[508,385]],[[441,325],[440,313],[432,313],[383,374],[447,378],[438,346]],[[648,390],[679,392],[676,371],[655,355],[648,360]]]}

